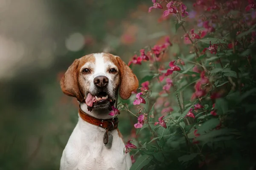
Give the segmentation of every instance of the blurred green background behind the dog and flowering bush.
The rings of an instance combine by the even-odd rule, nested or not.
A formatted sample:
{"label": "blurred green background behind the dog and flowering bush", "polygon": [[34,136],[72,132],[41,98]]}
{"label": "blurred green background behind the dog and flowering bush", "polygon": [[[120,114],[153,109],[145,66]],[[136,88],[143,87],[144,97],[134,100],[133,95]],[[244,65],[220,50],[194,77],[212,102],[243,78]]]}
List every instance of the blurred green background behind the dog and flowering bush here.
{"label": "blurred green background behind the dog and flowering bush", "polygon": [[[61,76],[74,59],[134,52],[169,34],[151,0],[0,0],[0,170],[56,170],[78,119]],[[163,31],[166,30],[166,31]],[[137,71],[140,79],[139,71]],[[133,118],[121,114],[125,140]]]}

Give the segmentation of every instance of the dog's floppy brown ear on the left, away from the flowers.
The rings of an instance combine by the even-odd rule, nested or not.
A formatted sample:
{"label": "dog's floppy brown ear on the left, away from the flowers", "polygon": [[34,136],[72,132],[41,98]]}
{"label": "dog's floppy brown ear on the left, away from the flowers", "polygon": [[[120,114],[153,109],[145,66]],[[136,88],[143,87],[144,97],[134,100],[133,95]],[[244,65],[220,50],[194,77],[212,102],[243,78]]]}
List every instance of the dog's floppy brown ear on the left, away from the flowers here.
{"label": "dog's floppy brown ear on the left, away from the flowers", "polygon": [[83,101],[78,83],[79,71],[77,70],[79,59],[76,59],[72,65],[67,69],[66,73],[61,79],[61,90],[68,96],[76,97],[79,102]]}

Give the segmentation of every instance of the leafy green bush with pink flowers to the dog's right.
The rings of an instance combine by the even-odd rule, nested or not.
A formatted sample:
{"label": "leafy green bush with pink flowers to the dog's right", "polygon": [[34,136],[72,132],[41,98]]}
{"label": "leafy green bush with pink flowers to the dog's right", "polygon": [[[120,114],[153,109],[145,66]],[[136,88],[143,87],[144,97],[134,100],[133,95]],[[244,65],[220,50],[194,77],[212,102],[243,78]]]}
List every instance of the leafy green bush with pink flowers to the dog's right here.
{"label": "leafy green bush with pink flowers to the dog's right", "polygon": [[136,98],[120,104],[137,119],[125,146],[131,170],[255,166],[256,3],[196,0],[189,11],[178,0],[152,2],[148,12],[175,20],[183,44],[166,36],[129,62],[148,65]]}

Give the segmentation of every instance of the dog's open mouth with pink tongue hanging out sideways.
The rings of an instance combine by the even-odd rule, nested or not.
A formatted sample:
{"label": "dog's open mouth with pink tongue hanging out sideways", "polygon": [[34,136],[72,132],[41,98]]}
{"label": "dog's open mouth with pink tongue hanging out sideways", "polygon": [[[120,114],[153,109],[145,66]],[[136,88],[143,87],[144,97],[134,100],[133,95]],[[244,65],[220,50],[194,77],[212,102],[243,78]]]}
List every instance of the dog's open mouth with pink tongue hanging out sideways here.
{"label": "dog's open mouth with pink tongue hanging out sideways", "polygon": [[99,92],[96,96],[93,96],[92,94],[88,93],[85,99],[85,103],[89,107],[104,104],[105,102],[112,102],[112,99],[108,98],[108,94],[105,91]]}

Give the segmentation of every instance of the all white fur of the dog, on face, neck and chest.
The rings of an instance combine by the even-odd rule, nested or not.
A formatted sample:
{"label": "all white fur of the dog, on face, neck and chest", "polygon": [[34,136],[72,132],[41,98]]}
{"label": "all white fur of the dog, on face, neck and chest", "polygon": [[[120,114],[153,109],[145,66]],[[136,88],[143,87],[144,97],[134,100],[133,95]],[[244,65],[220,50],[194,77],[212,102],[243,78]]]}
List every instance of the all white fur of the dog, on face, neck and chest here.
{"label": "all white fur of the dog, on face, neck and chest", "polygon": [[[94,71],[87,80],[90,82],[89,91],[93,91],[93,79],[97,76],[106,76],[109,79],[109,92],[115,95],[113,76],[107,72],[108,67],[116,68],[111,62],[105,62],[102,54],[94,54],[95,62],[86,62],[81,69],[90,65]],[[87,111],[87,105],[81,103],[81,110],[98,119],[109,119],[110,111]],[[104,113],[104,114],[102,114]],[[60,170],[129,170],[132,163],[129,153],[124,154],[125,144],[119,137],[118,131],[113,130],[112,147],[108,149],[103,143],[105,129],[85,122],[79,116],[78,123],[71,134],[61,157]]]}

